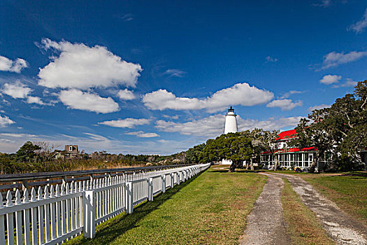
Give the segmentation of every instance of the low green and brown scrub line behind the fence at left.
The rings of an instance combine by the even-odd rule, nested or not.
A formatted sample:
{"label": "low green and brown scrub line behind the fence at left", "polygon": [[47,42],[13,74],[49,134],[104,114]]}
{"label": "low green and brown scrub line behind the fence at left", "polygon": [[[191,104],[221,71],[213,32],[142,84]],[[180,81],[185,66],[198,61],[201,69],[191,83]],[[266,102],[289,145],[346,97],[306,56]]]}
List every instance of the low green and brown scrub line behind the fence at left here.
{"label": "low green and brown scrub line behind the fence at left", "polygon": [[[16,153],[0,153],[0,174],[59,172],[85,169],[109,169],[127,166],[177,165],[185,163],[185,152],[173,155],[133,155],[84,151],[69,157],[66,151],[55,151],[49,142],[27,141]],[[59,155],[59,158],[56,156]]]}

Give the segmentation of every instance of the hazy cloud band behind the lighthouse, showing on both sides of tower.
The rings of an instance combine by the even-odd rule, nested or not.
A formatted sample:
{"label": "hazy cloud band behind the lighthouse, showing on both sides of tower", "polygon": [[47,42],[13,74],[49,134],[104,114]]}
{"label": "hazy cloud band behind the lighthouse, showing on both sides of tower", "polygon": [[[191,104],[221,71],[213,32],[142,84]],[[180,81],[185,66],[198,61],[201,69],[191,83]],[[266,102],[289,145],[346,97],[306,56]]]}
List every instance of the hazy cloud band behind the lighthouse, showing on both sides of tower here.
{"label": "hazy cloud band behind the lighthouse, showing on both sides of tower", "polygon": [[[251,130],[255,127],[264,130],[279,130],[283,128],[296,127],[301,116],[289,118],[268,118],[268,120],[254,120],[240,118],[237,116],[240,131]],[[184,135],[217,137],[224,132],[225,117],[221,114],[191,120],[186,123],[175,123],[165,120],[157,120],[155,127],[164,132],[178,132]]]}

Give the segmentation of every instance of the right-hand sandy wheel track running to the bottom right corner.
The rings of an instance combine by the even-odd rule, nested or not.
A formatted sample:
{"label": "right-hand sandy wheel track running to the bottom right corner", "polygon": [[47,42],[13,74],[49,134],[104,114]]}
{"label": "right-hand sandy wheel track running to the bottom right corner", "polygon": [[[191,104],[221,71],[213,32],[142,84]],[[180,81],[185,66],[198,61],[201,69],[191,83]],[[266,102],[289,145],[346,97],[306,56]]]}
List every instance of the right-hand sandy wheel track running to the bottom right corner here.
{"label": "right-hand sandy wheel track running to the bottom right corner", "polygon": [[312,210],[328,235],[337,244],[367,244],[367,228],[340,210],[334,202],[326,199],[309,183],[287,174],[275,174],[287,178],[302,202]]}

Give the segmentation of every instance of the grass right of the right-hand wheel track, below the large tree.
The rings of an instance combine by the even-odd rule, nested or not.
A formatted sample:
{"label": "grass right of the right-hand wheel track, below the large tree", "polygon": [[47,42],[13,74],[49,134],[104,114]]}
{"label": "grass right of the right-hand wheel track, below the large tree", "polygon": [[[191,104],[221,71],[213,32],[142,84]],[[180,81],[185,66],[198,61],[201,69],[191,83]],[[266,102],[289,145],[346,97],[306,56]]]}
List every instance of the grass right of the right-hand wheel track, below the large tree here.
{"label": "grass right of the right-hand wheel track, below the large tree", "polygon": [[335,176],[305,175],[302,178],[335,202],[340,209],[367,226],[366,172]]}

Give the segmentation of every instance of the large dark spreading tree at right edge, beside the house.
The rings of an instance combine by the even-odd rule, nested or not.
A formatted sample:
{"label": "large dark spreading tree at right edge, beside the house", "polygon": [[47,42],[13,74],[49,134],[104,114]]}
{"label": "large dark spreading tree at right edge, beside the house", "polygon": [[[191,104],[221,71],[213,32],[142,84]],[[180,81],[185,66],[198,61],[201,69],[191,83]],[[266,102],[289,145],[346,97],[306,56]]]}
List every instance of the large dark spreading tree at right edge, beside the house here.
{"label": "large dark spreading tree at right edge, beside the house", "polygon": [[361,167],[359,152],[367,148],[367,80],[357,83],[353,94],[336,99],[330,108],[312,111],[308,119],[301,119],[296,127],[297,138],[289,144],[317,148],[311,172],[326,152],[332,155],[331,169]]}

